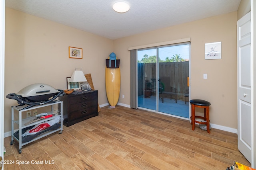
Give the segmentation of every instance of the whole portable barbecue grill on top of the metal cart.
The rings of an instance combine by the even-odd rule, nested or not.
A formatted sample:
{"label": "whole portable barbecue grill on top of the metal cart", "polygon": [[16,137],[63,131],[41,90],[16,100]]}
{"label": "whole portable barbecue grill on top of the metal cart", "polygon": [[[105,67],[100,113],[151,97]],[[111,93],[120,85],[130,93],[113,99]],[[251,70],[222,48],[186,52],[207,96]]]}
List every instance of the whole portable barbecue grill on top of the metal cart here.
{"label": "whole portable barbecue grill on top of the metal cart", "polygon": [[8,94],[6,98],[17,100],[19,106],[29,105],[23,108],[27,109],[36,105],[53,103],[58,96],[63,95],[63,90],[57,90],[48,84],[36,83],[26,86],[16,94]]}

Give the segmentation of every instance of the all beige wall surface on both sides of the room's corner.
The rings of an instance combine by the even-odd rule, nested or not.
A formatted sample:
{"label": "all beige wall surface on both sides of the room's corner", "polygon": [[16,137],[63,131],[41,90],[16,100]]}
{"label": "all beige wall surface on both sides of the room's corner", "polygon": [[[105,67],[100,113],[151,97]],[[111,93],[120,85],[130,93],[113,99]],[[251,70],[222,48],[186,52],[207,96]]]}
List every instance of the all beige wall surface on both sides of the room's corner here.
{"label": "all beige wall surface on both sides of the room's corner", "polygon": [[[66,89],[66,77],[75,68],[91,73],[106,104],[105,59],[111,52],[121,59],[119,103],[130,105],[130,52],[128,47],[191,38],[191,98],[211,102],[211,123],[237,128],[236,93],[237,12],[110,40],[72,27],[6,8],[5,95],[33,83]],[[222,41],[222,59],[204,60],[204,44]],[[69,59],[68,46],[83,49],[83,58]],[[203,74],[208,74],[204,80]],[[10,131],[15,100],[5,99],[4,131]]]}

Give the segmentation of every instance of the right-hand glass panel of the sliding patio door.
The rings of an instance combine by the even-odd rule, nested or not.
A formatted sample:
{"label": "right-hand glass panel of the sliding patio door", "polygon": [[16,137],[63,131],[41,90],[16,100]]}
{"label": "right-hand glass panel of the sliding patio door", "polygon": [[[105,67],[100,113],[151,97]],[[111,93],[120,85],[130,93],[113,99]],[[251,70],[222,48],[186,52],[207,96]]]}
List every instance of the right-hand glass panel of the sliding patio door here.
{"label": "right-hand glass panel of the sliding patio door", "polygon": [[189,44],[158,48],[158,111],[189,117]]}

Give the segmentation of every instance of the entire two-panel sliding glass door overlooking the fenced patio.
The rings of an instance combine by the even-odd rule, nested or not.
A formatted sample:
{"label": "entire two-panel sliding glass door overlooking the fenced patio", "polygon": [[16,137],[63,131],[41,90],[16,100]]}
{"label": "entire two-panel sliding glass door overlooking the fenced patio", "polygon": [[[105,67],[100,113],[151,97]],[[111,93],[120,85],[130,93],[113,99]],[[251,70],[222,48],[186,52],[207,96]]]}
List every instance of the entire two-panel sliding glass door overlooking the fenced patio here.
{"label": "entire two-panel sliding glass door overlooking the fenced patio", "polygon": [[189,47],[138,50],[138,107],[189,117]]}

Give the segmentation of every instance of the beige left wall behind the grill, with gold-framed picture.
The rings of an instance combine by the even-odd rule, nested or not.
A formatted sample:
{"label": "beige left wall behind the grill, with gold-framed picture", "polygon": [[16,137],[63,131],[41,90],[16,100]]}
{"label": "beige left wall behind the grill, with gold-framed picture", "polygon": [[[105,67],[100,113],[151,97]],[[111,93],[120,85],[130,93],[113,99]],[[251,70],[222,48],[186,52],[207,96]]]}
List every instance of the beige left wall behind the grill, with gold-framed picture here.
{"label": "beige left wall behind the grill, with gold-framed picture", "polygon": [[[99,104],[106,104],[105,59],[113,40],[6,8],[5,95],[33,83],[66,89],[75,68],[91,73]],[[69,59],[68,46],[83,49],[83,59]],[[4,100],[4,132],[11,130],[11,106]]]}

